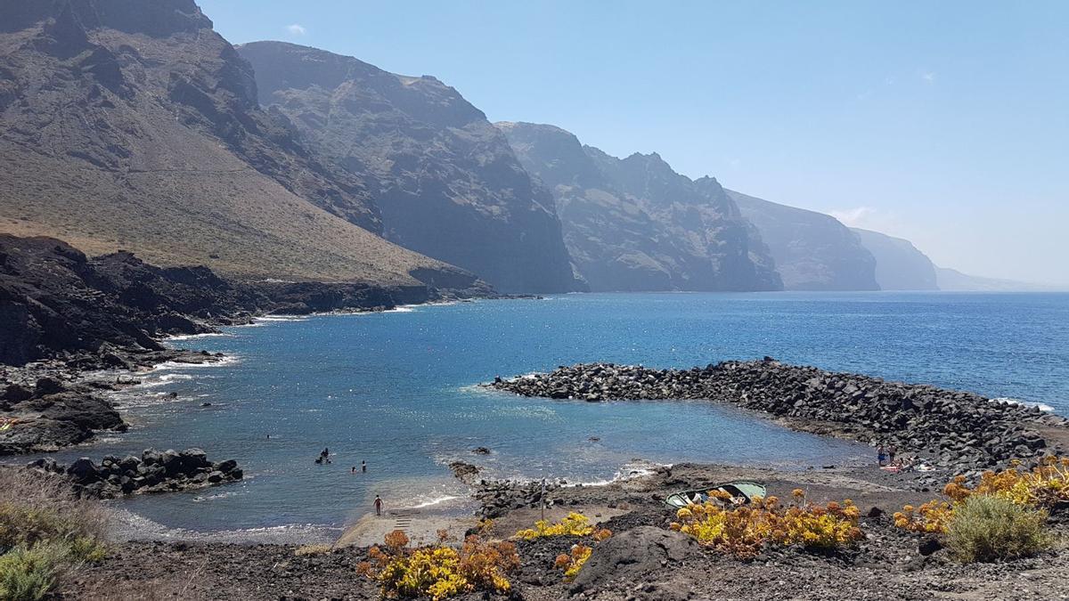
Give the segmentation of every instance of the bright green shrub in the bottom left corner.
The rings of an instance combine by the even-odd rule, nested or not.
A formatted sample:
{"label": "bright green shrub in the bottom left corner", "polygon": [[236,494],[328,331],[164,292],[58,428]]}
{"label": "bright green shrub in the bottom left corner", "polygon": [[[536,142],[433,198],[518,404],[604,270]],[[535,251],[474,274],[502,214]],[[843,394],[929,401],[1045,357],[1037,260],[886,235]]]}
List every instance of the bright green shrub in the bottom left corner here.
{"label": "bright green shrub in the bottom left corner", "polygon": [[63,543],[43,542],[0,555],[0,601],[36,601],[56,584],[69,560]]}

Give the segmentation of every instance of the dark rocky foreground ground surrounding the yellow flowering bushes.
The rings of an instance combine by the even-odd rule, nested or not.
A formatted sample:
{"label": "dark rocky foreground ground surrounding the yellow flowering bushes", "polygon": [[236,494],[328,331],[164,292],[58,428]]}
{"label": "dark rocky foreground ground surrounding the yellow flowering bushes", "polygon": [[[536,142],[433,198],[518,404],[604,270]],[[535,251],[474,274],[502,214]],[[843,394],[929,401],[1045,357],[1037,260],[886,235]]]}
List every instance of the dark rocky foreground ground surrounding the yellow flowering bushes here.
{"label": "dark rocky foreground ground surrounding the yellow flowering bushes", "polygon": [[[833,556],[770,550],[740,560],[667,529],[673,511],[662,500],[668,492],[733,479],[764,482],[771,494],[781,497],[802,488],[817,503],[852,498],[863,509],[866,539]],[[517,499],[527,495],[525,487],[510,489]],[[927,498],[914,490],[909,476],[874,467],[777,472],[684,464],[604,487],[556,487],[548,493],[547,518],[582,511],[614,536],[597,544],[578,537],[520,541],[522,565],[512,576],[512,597],[532,601],[1069,599],[1069,553],[1062,542],[1029,559],[962,566],[947,551],[923,544],[925,537],[894,528],[890,512]],[[539,515],[527,505],[508,509],[485,536],[507,538]],[[1069,535],[1063,525],[1055,524],[1054,529],[1063,539]],[[594,552],[575,582],[564,583],[553,563],[576,542],[593,545]],[[107,559],[69,579],[61,597],[375,599],[375,586],[354,571],[366,549],[344,546],[297,556],[295,545],[119,543]]]}

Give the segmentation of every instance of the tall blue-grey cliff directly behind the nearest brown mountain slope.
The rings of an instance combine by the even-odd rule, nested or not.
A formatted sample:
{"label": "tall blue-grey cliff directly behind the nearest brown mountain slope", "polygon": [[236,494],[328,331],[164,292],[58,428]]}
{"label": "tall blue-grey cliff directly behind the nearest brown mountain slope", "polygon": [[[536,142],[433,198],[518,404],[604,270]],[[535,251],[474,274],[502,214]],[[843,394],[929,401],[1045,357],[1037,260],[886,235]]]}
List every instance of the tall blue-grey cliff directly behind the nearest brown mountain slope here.
{"label": "tall blue-grey cliff directly behind the nearest brown mountain slope", "polygon": [[372,182],[385,235],[501,291],[577,289],[553,197],[455,90],[279,42],[238,48],[264,106]]}

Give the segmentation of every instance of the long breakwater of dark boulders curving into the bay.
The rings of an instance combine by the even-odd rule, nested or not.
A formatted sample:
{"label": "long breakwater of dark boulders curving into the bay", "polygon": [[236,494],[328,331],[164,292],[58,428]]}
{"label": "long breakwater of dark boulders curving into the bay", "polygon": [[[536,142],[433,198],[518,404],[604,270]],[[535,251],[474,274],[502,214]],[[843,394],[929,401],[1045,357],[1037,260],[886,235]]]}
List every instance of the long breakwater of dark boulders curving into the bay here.
{"label": "long breakwater of dark boulders curving into the bay", "polygon": [[938,466],[1005,467],[1064,452],[1069,421],[972,392],[790,366],[771,358],[688,370],[580,364],[486,386],[525,397],[584,401],[708,399],[771,414],[786,426],[895,445]]}

